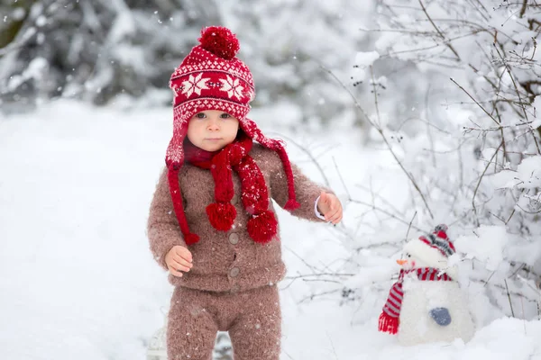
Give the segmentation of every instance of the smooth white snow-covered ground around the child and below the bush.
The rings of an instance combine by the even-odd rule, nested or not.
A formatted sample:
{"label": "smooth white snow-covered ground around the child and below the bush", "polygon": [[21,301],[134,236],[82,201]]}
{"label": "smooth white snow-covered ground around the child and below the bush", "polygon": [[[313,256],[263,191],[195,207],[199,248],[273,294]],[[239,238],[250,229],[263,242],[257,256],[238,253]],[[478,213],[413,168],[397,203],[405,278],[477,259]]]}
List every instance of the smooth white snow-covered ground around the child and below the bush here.
{"label": "smooth white snow-covered ground around the child and below the bush", "polygon": [[[278,115],[259,111],[253,118],[265,132],[316,144],[320,153],[330,148],[323,156],[335,156],[346,183],[370,175],[394,201],[407,191],[399,176],[374,173],[393,167],[388,155],[359,148],[347,127],[299,133]],[[172,291],[144,233],[170,128],[169,108],[127,112],[67,101],[0,118],[0,359],[145,358]],[[289,148],[321,181],[302,151]],[[332,167],[326,172],[340,184]],[[308,266],[340,269],[348,254],[334,229],[279,215],[289,276],[308,274]],[[356,216],[346,209],[344,220]],[[541,359],[538,320],[501,318],[465,345],[405,348],[377,331],[384,296],[343,306],[332,296],[305,301],[319,285],[280,284],[282,359]]]}

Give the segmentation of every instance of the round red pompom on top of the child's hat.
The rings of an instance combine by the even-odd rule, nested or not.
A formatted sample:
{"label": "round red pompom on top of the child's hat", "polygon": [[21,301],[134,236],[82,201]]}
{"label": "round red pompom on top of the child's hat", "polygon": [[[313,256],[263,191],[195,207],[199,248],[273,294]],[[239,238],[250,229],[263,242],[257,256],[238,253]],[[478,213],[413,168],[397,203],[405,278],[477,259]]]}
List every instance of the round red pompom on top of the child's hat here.
{"label": "round red pompom on top of the child's hat", "polygon": [[209,26],[203,29],[199,42],[203,49],[226,60],[234,58],[241,48],[234,33],[222,26]]}

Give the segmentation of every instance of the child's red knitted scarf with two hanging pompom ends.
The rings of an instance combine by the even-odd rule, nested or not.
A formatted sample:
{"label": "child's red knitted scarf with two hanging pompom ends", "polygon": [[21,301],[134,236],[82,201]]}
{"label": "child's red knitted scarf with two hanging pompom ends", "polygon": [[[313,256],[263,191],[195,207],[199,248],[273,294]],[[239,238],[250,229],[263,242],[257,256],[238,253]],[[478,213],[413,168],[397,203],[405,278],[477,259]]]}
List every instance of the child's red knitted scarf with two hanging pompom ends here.
{"label": "child's red knitted scarf with two hanging pompom ends", "polygon": [[184,144],[186,161],[194,166],[210,169],[215,182],[215,202],[206,207],[211,225],[227,231],[233,227],[236,209],[231,203],[234,195],[233,171],[241,179],[244,209],[252,215],[248,220],[248,234],[255,242],[267,243],[276,235],[278,221],[269,210],[269,192],[261,169],[248,155],[252,139],[242,131],[239,137],[221,150],[209,152],[191,142]]}

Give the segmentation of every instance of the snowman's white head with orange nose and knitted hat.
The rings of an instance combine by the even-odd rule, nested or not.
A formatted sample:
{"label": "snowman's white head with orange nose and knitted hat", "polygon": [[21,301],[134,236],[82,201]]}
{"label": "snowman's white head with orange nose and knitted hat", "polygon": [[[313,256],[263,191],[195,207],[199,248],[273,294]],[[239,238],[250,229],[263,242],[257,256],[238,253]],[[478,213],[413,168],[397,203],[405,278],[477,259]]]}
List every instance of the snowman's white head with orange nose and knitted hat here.
{"label": "snowman's white head with orange nose and knitted hat", "polygon": [[448,266],[448,260],[454,254],[455,249],[447,237],[446,230],[446,225],[438,225],[432,234],[408,240],[402,251],[404,257],[397,261],[399,265],[404,270],[434,267],[454,277],[456,269],[454,266]]}

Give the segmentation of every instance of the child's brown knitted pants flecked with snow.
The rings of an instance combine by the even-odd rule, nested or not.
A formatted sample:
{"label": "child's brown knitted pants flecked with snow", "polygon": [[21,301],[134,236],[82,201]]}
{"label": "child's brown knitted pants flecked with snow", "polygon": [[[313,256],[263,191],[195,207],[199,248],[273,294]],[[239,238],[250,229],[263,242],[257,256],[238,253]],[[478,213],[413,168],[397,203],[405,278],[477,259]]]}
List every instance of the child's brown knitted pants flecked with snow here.
{"label": "child's brown knitted pants flecked with snow", "polygon": [[278,288],[213,293],[177,287],[167,329],[169,360],[211,360],[217,331],[228,331],[234,360],[280,359]]}

